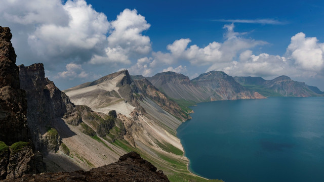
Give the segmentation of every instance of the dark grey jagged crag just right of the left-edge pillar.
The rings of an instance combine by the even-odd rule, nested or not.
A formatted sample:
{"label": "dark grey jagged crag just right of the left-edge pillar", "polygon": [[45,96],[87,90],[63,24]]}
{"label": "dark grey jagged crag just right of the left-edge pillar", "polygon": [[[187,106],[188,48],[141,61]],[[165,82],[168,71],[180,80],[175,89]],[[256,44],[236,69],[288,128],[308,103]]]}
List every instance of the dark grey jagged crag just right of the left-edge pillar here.
{"label": "dark grey jagged crag just right of the left-edge pillar", "polygon": [[27,121],[35,149],[42,152],[56,152],[61,144],[60,138],[47,132],[56,118],[71,113],[75,106],[53,81],[45,78],[42,63],[26,67],[20,65],[19,78],[21,88],[26,90]]}

